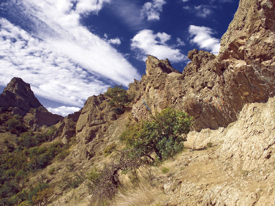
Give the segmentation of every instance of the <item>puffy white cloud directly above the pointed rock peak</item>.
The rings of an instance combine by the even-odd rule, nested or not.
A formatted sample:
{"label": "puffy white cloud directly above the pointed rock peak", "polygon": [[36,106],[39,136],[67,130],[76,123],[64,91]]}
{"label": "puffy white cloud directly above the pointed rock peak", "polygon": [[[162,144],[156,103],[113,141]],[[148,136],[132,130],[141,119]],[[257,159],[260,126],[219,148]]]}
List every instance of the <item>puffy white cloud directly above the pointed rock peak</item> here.
{"label": "puffy white cloud directly above the pointed rock peak", "polygon": [[169,46],[166,42],[171,35],[166,33],[154,34],[152,30],[144,29],[131,39],[131,49],[137,50],[138,57],[146,60],[146,55],[153,55],[158,59],[168,58],[171,62],[182,62],[187,59],[180,49]]}

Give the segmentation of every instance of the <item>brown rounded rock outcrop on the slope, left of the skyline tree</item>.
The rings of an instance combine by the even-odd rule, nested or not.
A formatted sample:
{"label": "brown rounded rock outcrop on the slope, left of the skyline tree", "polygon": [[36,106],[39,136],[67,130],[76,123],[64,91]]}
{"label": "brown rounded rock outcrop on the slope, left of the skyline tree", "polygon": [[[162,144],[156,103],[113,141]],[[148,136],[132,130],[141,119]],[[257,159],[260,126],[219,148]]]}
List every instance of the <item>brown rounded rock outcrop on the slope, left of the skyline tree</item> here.
{"label": "brown rounded rock outcrop on the slope, left of the skyline tree", "polygon": [[104,94],[87,99],[76,123],[77,146],[65,159],[66,162],[90,165],[94,159],[103,159],[100,155],[107,146],[119,142],[118,137],[129,121],[129,112],[117,116],[108,102]]}

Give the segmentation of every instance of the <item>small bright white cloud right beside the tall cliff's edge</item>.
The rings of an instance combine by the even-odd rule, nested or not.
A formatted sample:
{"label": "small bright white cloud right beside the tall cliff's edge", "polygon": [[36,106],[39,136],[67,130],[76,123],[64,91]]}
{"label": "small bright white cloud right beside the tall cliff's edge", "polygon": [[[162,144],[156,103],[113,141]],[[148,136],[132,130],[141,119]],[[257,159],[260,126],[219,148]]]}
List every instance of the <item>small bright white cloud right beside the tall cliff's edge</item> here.
{"label": "small bright white cloud right beside the tall cliff's edge", "polygon": [[205,49],[213,54],[218,54],[220,49],[220,40],[212,37],[212,29],[204,26],[190,25],[188,32],[192,37],[191,43],[195,43],[200,49]]}

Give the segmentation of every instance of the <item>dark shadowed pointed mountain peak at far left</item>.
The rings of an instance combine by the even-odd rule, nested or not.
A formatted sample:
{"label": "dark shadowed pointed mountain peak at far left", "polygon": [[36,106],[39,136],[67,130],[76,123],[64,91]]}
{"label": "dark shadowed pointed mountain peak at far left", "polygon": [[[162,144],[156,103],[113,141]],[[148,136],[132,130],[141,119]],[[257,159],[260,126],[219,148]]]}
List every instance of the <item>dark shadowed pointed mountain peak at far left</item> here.
{"label": "dark shadowed pointed mountain peak at far left", "polygon": [[32,114],[28,115],[29,126],[36,129],[37,126],[51,126],[58,123],[63,117],[48,112],[34,96],[29,83],[21,78],[14,77],[0,94],[0,107],[2,110],[12,108],[12,115],[25,116],[32,108]]}

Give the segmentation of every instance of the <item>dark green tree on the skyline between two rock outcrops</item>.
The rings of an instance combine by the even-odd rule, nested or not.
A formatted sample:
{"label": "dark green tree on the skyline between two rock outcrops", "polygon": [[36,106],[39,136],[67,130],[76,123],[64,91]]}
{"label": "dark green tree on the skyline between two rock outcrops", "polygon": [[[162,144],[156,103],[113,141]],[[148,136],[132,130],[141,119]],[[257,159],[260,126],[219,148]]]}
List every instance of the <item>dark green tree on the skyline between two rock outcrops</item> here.
{"label": "dark green tree on the skyline between two rock outcrops", "polygon": [[127,107],[132,101],[127,91],[123,89],[122,84],[115,85],[113,88],[109,88],[105,93],[110,99],[109,105],[114,108],[117,114],[122,114],[125,107]]}

